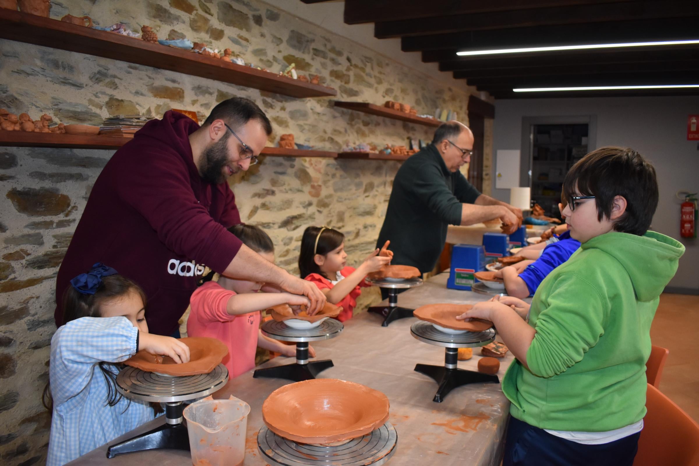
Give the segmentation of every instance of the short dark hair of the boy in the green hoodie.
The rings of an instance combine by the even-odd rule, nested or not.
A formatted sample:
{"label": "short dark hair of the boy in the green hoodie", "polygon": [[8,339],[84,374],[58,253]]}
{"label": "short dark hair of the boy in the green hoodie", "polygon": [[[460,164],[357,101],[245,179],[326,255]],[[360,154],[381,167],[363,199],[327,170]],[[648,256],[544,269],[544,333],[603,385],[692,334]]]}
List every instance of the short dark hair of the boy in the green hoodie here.
{"label": "short dark hair of the boy in the green hoodie", "polygon": [[563,193],[595,196],[597,217],[610,218],[615,196],[626,199],[626,212],[614,221],[614,231],[643,235],[658,207],[655,168],[628,147],[600,147],[590,152],[565,175]]}

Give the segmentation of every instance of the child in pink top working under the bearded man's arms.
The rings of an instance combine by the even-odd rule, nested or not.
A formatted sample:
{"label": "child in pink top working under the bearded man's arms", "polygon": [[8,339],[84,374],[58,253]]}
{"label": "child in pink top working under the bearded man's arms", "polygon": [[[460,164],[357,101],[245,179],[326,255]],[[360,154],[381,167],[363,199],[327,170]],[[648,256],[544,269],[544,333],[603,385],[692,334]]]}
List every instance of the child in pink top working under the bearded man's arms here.
{"label": "child in pink top working under the bearded man's arms", "polygon": [[[229,231],[244,245],[274,263],[273,242],[260,228],[240,224],[232,226]],[[260,311],[280,304],[308,305],[308,298],[291,293],[260,293],[264,283],[222,275],[215,282],[212,280],[214,277],[213,272],[204,277],[205,283],[189,299],[192,309],[187,320],[187,335],[212,337],[224,342],[228,347],[228,355],[222,362],[228,367],[231,378],[254,367],[257,347],[284,356],[296,355],[296,347],[262,335],[259,330]],[[315,356],[315,351],[310,346],[308,351],[311,357]]]}

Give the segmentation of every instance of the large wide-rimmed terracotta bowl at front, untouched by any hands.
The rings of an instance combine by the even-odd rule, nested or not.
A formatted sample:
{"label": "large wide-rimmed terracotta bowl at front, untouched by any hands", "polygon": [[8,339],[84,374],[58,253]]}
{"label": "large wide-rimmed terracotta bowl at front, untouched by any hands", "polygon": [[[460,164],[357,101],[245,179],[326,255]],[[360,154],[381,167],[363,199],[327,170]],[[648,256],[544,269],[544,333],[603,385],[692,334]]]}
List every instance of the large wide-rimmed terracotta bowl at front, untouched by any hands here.
{"label": "large wide-rimmed terracotta bowl at front, untouched by any hands", "polygon": [[389,418],[389,399],[368,386],[338,379],[284,385],[262,405],[267,427],[302,444],[336,444],[366,435]]}

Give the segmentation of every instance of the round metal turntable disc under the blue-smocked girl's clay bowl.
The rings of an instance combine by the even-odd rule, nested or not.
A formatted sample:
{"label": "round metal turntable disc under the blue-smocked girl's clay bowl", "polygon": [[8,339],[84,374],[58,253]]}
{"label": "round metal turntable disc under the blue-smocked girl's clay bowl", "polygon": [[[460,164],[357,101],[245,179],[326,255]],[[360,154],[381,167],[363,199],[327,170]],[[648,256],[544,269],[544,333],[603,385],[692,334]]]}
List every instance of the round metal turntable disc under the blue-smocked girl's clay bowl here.
{"label": "round metal turntable disc under the blue-smocked girl's clay bowl", "polygon": [[217,365],[208,374],[171,375],[126,367],[117,375],[117,391],[134,400],[173,403],[194,400],[214,393],[228,381],[228,369]]}

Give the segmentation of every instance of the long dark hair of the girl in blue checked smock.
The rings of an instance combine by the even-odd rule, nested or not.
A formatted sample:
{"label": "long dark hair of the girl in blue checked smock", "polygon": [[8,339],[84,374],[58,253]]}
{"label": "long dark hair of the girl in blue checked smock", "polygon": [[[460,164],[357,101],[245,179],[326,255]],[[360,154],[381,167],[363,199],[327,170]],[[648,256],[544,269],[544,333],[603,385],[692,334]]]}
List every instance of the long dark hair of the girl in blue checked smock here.
{"label": "long dark hair of the girl in blue checked smock", "polygon": [[[137,293],[143,301],[145,307],[147,298],[145,292],[136,284],[123,275],[115,274],[101,277],[102,283],[93,295],[82,294],[69,285],[63,293],[63,325],[80,319],[80,317],[101,317],[99,307],[106,300],[128,296],[129,293]],[[121,365],[119,363],[99,362],[99,368],[107,383],[107,399],[106,405],[115,406],[122,399],[122,394],[117,391],[117,376],[115,369],[118,372]],[[49,411],[53,411],[53,398],[51,396],[50,385],[46,384],[42,396],[42,404]],[[129,400],[129,405],[131,400]],[[128,409],[129,405],[124,408]],[[159,403],[150,403],[154,414],[163,412]]]}

